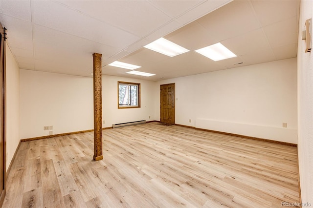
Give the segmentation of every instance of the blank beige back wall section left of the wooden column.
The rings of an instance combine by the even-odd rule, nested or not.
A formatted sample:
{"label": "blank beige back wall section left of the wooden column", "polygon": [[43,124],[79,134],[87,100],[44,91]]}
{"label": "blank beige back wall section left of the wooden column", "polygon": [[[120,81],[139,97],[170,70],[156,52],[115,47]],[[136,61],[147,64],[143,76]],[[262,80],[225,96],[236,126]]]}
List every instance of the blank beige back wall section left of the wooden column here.
{"label": "blank beige back wall section left of the wooden column", "polygon": [[20,70],[21,139],[93,129],[92,78]]}

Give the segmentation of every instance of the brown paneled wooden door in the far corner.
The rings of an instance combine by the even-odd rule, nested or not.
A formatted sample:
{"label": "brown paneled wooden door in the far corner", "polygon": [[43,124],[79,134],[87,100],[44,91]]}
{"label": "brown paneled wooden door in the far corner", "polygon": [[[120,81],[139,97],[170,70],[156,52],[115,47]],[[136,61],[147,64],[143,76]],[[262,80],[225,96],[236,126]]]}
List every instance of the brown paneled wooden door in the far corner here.
{"label": "brown paneled wooden door in the far corner", "polygon": [[160,85],[160,121],[175,124],[175,83]]}

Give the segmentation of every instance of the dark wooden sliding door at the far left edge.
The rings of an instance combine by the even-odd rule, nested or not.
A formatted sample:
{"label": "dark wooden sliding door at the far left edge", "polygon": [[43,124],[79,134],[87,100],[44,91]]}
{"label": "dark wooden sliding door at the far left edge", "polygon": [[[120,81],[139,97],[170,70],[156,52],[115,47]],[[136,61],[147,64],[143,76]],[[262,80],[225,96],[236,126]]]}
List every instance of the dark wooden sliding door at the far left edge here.
{"label": "dark wooden sliding door at the far left edge", "polygon": [[0,23],[0,206],[2,206],[5,196],[5,42],[4,29]]}

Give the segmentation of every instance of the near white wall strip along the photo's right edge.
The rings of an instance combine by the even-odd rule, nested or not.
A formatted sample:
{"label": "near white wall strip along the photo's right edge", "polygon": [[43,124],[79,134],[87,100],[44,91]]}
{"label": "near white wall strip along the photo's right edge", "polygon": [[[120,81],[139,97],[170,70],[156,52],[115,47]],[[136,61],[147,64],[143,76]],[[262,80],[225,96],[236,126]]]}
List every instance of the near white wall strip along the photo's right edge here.
{"label": "near white wall strip along the photo's right edge", "polygon": [[300,2],[298,41],[298,157],[302,203],[313,206],[313,54],[304,52],[302,30],[313,18],[313,1]]}

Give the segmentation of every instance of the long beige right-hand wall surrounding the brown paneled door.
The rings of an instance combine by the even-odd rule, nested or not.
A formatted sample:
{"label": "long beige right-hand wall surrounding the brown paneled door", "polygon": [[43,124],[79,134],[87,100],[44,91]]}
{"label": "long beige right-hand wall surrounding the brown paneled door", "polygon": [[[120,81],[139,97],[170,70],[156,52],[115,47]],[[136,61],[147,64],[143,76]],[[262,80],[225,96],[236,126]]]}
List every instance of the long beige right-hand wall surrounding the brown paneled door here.
{"label": "long beige right-hand wall surrounding the brown paneled door", "polygon": [[295,58],[157,82],[157,120],[163,83],[176,83],[176,124],[297,143]]}

